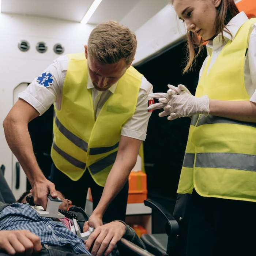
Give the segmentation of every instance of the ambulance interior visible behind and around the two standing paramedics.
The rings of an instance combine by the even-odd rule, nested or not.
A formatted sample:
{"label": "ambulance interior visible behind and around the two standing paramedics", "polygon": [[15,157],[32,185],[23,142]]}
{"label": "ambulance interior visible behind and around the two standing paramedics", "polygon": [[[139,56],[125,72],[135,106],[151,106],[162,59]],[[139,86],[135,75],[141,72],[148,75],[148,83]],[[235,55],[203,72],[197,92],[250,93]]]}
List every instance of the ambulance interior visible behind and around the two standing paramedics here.
{"label": "ambulance interior visible behind and around the two standing paramedics", "polygon": [[[235,2],[249,18],[256,16],[255,0]],[[95,10],[84,19],[94,5]],[[132,65],[153,84],[154,92],[166,91],[167,84],[189,84],[188,89],[195,94],[199,69],[207,53],[204,50],[199,56],[193,72],[182,75],[185,26],[167,0],[0,0],[1,123],[19,92],[61,54],[83,52],[91,30],[106,20],[116,20],[135,31],[138,48]],[[177,209],[176,190],[190,119],[168,122],[159,118],[158,113],[154,111],[148,123],[144,159],[138,157],[129,176],[126,222],[139,236],[144,236],[148,254],[134,249],[127,255],[175,255],[177,247],[182,246],[182,239],[178,241],[177,236],[182,237],[178,225],[182,223],[186,202],[182,198]],[[34,154],[46,177],[52,164],[52,125],[53,105],[29,123]],[[8,147],[2,125],[0,152],[4,178],[18,199],[31,187]],[[90,214],[93,207],[90,193],[80,196],[87,196],[85,210]],[[147,198],[157,204],[149,201],[145,206]]]}

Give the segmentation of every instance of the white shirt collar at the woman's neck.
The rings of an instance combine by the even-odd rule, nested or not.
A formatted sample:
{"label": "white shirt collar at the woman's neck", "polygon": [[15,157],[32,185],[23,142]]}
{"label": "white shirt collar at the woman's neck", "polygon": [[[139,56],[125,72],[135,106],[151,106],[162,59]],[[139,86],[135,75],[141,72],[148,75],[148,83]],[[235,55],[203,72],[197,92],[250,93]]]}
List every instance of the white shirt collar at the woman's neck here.
{"label": "white shirt collar at the woman's neck", "polygon": [[[227,29],[230,31],[231,35],[229,33],[227,33],[225,30],[223,31],[223,36],[225,39],[225,42],[227,42],[228,40],[233,40],[238,29],[240,29],[240,27],[248,20],[246,14],[244,12],[240,12],[238,13],[236,16],[234,16],[229,23],[227,23]],[[224,44],[225,44],[224,42]],[[221,38],[221,33],[218,34],[213,41],[209,41],[208,44],[206,45],[207,48],[212,48],[212,49],[218,49],[220,46],[223,45],[223,41]],[[207,49],[208,52],[212,52],[212,50]]]}

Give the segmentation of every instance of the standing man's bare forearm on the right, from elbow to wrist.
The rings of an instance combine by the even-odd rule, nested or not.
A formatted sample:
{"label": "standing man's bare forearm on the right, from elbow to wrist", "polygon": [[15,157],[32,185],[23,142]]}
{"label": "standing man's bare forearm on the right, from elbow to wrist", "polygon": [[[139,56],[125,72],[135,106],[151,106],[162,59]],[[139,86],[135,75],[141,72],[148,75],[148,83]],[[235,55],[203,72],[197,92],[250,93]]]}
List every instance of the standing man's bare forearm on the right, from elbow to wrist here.
{"label": "standing man's bare forearm on the right, from elbow to wrist", "polygon": [[131,158],[126,161],[124,159],[116,160],[106,180],[101,200],[99,201],[98,206],[94,210],[95,214],[104,214],[110,202],[123,188],[125,182],[128,179],[129,173],[131,172],[135,163],[136,159],[131,160]]}

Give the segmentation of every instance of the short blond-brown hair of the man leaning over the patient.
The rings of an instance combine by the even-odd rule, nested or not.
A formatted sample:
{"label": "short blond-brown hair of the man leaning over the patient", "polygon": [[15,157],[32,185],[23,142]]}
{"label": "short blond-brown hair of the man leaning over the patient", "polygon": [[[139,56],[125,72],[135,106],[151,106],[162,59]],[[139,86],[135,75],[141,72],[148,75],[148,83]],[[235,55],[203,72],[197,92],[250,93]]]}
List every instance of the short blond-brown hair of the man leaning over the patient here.
{"label": "short blond-brown hair of the man leaning over the patient", "polygon": [[136,35],[116,21],[109,20],[97,25],[88,39],[88,52],[104,64],[117,63],[125,59],[131,64],[136,48]]}

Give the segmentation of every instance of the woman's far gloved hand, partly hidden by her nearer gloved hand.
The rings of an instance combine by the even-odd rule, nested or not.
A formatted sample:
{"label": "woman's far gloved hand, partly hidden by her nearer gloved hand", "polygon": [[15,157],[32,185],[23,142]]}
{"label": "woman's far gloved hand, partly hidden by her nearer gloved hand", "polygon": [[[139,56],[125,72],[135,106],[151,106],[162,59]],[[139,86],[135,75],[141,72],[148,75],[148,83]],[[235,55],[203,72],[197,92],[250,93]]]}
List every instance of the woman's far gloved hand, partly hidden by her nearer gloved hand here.
{"label": "woman's far gloved hand, partly hidden by her nearer gloved hand", "polygon": [[[184,85],[182,85],[184,86]],[[171,84],[168,84],[168,87],[169,87],[169,90],[167,91],[167,93],[151,93],[151,94],[148,94],[148,97],[151,97],[151,98],[155,98],[155,99],[158,99],[158,103],[155,103],[155,104],[152,104],[150,105],[147,109],[148,110],[152,110],[152,109],[161,109],[161,108],[164,108],[167,103],[169,102],[170,100],[170,97],[174,94],[180,94],[181,92],[181,89],[176,87],[176,86],[173,86]],[[184,86],[185,87],[185,86]],[[184,87],[182,87],[182,89],[184,89]],[[185,87],[184,90],[187,90],[188,93],[189,93],[189,90]],[[169,114],[169,113],[168,113]],[[166,116],[168,115],[166,114]]]}

